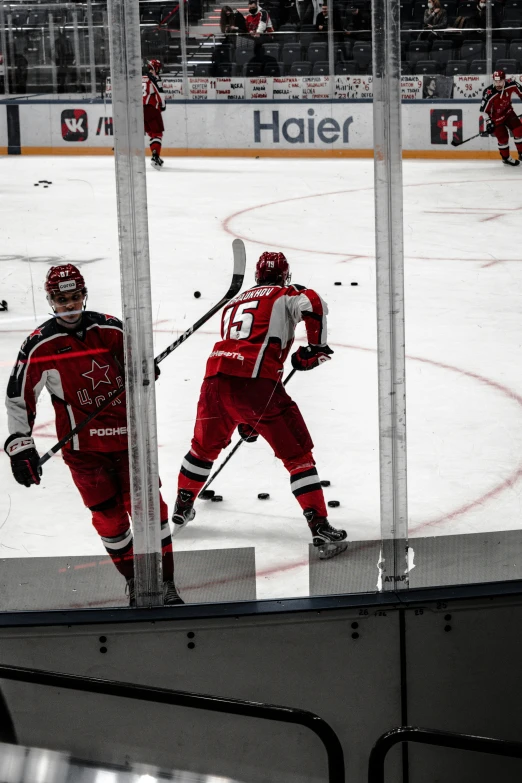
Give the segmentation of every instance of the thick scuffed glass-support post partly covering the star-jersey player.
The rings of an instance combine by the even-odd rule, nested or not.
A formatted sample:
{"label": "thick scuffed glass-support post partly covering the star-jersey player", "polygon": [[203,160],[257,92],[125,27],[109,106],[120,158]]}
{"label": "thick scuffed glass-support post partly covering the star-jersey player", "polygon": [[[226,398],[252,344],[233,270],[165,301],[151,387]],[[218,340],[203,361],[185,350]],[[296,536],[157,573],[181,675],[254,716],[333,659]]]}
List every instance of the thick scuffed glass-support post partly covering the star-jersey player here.
{"label": "thick scuffed glass-support post partly covering the star-jersey player", "polygon": [[163,596],[139,4],[109,0],[108,9],[136,601],[158,606]]}

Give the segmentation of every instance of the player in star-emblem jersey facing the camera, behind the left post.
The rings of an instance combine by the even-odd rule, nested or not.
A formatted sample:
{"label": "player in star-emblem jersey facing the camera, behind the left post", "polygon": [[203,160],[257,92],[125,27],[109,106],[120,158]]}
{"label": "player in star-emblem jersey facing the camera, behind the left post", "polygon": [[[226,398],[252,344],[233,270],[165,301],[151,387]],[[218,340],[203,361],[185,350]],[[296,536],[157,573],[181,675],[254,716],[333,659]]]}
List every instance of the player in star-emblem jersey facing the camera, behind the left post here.
{"label": "player in star-emblem jersey facing the camera, behind the left post", "polygon": [[[42,469],[31,436],[38,396],[51,395],[56,431],[61,440],[124,385],[123,328],[118,318],[85,310],[87,288],[73,264],[53,266],[45,280],[47,301],[55,317],[23,343],[7,387],[10,432],[4,450],[13,476],[30,487],[40,483]],[[62,450],[92,523],[135,601],[133,537],[127,416],[121,397]],[[159,491],[159,490],[158,490]],[[167,505],[160,493],[165,604],[183,603],[174,586],[172,539]],[[72,524],[72,522],[71,522]]]}

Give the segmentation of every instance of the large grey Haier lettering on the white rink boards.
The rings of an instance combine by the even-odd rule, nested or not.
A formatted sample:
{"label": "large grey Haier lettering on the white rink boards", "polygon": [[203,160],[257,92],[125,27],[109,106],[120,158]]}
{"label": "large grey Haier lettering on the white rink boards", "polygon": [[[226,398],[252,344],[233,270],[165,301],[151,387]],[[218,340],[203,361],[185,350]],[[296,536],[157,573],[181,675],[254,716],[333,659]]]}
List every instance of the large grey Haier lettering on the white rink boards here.
{"label": "large grey Haier lettering on the white rink boards", "polygon": [[[263,117],[261,117],[263,115]],[[271,119],[269,119],[271,115]],[[350,125],[353,117],[347,117],[340,125],[333,117],[324,117],[317,122],[315,111],[308,109],[308,117],[290,117],[284,122],[279,120],[279,112],[254,112],[254,142],[279,144],[282,140],[289,144],[333,144],[350,141]],[[281,138],[282,137],[282,138]]]}

